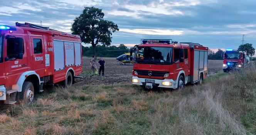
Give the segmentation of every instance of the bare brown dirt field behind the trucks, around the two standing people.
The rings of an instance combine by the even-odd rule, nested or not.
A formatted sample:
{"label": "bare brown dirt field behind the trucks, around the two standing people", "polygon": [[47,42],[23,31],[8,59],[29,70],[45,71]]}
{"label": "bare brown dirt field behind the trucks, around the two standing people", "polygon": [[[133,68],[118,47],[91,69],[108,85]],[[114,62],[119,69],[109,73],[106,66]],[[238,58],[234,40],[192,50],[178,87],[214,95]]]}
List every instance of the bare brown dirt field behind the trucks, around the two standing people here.
{"label": "bare brown dirt field behind the trucks, around the two standing people", "polygon": [[[96,76],[91,73],[90,60],[91,58],[83,57],[83,72],[76,78],[76,85],[111,85],[118,83],[131,83],[132,65],[120,65],[116,58],[103,58],[106,62],[105,75]],[[96,60],[98,63],[99,60]],[[99,68],[99,66],[98,66]],[[208,75],[215,75],[222,70],[222,60],[208,61]]]}

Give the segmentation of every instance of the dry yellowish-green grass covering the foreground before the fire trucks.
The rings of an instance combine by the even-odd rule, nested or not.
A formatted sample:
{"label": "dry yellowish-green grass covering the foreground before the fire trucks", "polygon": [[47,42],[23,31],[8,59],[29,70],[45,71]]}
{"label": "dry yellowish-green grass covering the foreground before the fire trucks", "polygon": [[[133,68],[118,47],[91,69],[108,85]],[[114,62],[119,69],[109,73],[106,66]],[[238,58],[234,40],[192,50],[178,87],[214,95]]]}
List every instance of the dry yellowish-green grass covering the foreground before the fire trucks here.
{"label": "dry yellowish-green grass covering the foreground before the fire trucks", "polygon": [[132,85],[55,88],[0,115],[0,134],[256,134],[256,68],[203,85],[146,92]]}

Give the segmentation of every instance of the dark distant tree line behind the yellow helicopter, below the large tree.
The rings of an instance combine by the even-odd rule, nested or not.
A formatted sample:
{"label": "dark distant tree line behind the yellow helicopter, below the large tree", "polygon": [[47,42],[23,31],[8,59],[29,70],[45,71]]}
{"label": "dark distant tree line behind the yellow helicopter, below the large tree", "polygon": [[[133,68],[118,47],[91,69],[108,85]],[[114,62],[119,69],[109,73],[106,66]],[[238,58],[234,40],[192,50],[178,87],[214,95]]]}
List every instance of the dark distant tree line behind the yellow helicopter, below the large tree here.
{"label": "dark distant tree line behind the yellow helicopter, below the large tree", "polygon": [[[124,53],[130,52],[129,48],[124,44],[120,44],[119,47],[116,46],[104,46],[96,45],[97,57],[118,57]],[[84,47],[83,46],[83,56],[91,57],[94,55],[93,47]]]}

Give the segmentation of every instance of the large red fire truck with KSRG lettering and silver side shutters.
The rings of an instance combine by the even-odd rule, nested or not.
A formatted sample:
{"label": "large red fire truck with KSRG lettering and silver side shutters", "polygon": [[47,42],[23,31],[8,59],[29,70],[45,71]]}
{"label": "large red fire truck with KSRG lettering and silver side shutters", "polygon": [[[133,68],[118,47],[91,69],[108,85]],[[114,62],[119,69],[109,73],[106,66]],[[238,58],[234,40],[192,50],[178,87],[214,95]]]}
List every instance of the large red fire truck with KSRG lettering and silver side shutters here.
{"label": "large red fire truck with KSRG lettering and silver side shutters", "polygon": [[0,25],[0,100],[32,102],[44,85],[66,88],[82,71],[81,39],[30,23]]}

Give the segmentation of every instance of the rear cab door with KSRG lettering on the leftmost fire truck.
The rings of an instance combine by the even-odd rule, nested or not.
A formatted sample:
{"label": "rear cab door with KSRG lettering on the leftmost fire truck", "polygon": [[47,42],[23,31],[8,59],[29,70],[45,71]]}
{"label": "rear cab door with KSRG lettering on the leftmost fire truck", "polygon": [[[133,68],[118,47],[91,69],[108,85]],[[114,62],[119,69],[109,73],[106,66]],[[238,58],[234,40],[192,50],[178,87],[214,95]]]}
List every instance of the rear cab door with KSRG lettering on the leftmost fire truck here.
{"label": "rear cab door with KSRG lettering on the leftmost fire truck", "polygon": [[32,44],[32,65],[34,70],[40,77],[45,73],[45,55],[44,55],[44,38],[42,36],[31,37]]}

